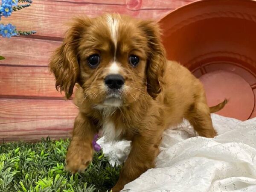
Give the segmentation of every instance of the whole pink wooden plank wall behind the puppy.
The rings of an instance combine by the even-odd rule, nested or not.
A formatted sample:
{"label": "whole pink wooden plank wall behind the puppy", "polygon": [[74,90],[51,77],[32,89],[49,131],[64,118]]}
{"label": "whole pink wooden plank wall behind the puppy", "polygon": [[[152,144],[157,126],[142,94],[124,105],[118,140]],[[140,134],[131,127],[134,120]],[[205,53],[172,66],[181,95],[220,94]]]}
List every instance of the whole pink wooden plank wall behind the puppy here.
{"label": "whole pink wooden plank wall behind the puppy", "polygon": [[[0,38],[0,141],[40,140],[69,137],[77,109],[55,90],[47,60],[61,44],[72,17],[95,17],[119,12],[143,19],[158,20],[194,0],[34,0],[32,6],[1,23],[37,34],[11,39]],[[26,51],[26,52],[25,52]]]}

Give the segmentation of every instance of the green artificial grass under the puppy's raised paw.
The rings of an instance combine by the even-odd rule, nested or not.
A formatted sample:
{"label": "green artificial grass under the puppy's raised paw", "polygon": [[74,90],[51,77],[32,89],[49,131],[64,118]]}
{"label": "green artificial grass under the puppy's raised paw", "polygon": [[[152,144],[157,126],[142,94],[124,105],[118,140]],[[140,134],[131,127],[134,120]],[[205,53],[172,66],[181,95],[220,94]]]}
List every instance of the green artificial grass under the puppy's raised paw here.
{"label": "green artificial grass under the puppy's raised paw", "polygon": [[102,151],[84,173],[65,171],[68,145],[49,138],[0,144],[0,192],[105,192],[114,186],[121,166],[111,166]]}

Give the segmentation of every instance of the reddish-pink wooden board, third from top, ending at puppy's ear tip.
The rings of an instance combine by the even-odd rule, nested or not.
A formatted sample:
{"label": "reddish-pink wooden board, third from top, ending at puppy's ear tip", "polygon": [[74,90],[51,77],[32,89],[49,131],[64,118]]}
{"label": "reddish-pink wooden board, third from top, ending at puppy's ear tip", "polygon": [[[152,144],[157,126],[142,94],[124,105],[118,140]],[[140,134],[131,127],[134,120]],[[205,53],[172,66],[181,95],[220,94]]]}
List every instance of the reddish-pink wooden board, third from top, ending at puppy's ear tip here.
{"label": "reddish-pink wooden board, third from top, ending at puppy's ear tip", "polygon": [[63,97],[48,67],[0,66],[0,96]]}

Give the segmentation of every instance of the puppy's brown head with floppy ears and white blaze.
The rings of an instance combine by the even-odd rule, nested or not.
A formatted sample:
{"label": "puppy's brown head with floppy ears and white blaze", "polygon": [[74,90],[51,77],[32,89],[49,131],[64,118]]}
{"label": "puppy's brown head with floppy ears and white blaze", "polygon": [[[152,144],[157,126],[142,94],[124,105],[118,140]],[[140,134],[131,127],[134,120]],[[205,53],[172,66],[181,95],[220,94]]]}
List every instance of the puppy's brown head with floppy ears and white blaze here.
{"label": "puppy's brown head with floppy ears and white blaze", "polygon": [[165,67],[157,24],[118,14],[74,19],[49,62],[67,99],[79,83],[93,104],[116,107],[155,98]]}

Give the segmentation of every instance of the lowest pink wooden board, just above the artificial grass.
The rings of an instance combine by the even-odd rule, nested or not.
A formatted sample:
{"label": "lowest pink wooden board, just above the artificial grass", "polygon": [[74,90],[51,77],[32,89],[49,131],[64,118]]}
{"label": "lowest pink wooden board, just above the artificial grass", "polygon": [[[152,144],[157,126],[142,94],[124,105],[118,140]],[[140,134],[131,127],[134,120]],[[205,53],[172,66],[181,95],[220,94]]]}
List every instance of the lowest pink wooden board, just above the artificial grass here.
{"label": "lowest pink wooden board, just above the artificial grass", "polygon": [[68,137],[77,113],[72,101],[0,99],[0,141]]}

